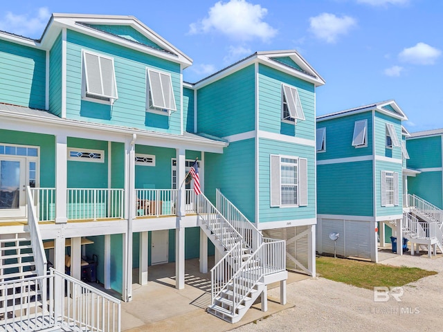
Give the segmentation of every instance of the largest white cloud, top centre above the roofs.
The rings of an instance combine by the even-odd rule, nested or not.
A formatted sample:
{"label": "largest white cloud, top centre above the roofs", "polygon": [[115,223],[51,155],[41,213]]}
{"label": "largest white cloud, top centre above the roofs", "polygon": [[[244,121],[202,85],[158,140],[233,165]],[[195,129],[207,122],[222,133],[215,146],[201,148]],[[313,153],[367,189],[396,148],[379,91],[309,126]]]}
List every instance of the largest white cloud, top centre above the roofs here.
{"label": "largest white cloud, top centre above the roofs", "polygon": [[209,9],[208,17],[190,24],[189,33],[217,31],[238,40],[260,38],[268,41],[277,34],[277,30],[263,21],[267,13],[266,8],[246,0],[219,1]]}

